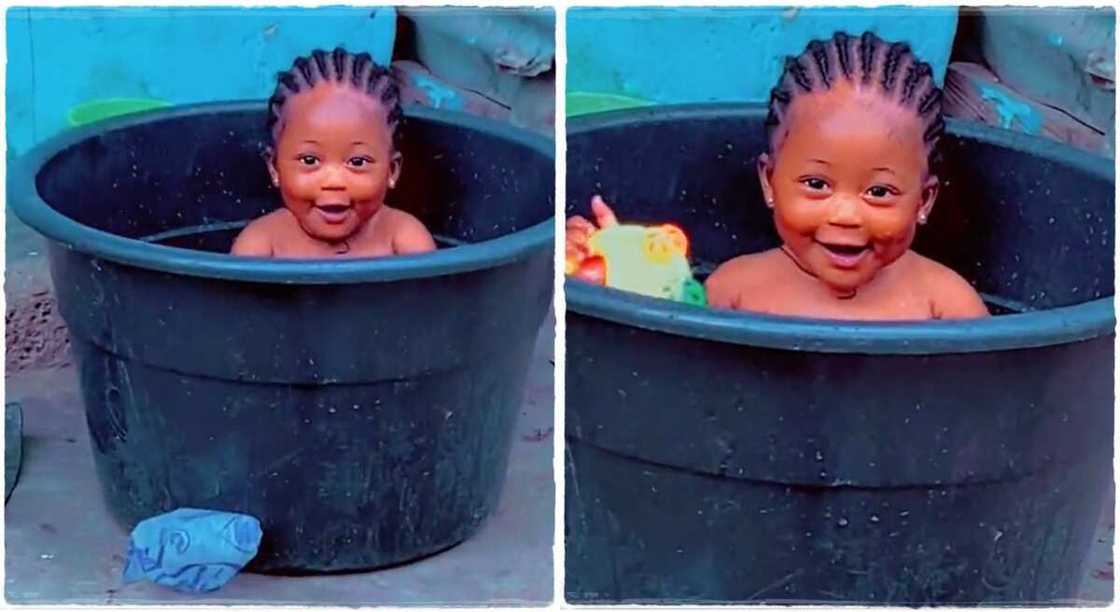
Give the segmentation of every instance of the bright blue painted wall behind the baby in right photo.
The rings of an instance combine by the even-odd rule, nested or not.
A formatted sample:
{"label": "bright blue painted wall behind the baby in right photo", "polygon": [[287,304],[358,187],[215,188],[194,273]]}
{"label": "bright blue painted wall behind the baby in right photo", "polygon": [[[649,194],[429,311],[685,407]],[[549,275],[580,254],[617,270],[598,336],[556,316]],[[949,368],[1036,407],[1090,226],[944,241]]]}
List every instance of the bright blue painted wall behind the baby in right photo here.
{"label": "bright blue painted wall behind the baby in right photo", "polygon": [[765,101],[782,59],[837,30],[909,43],[944,78],[956,7],[568,11],[568,91],[651,102]]}

